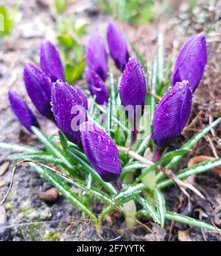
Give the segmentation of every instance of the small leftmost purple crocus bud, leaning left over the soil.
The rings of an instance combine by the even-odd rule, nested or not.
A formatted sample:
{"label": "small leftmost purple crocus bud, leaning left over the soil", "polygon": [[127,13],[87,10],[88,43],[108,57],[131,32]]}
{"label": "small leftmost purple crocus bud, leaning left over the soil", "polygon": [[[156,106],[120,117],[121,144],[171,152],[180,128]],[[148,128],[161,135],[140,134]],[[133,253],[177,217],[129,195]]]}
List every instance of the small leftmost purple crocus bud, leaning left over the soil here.
{"label": "small leftmost purple crocus bud, leaning left over the soil", "polygon": [[20,95],[10,90],[8,93],[8,98],[13,112],[21,124],[24,125],[24,127],[28,129],[29,132],[32,132],[32,126],[40,128],[37,118]]}

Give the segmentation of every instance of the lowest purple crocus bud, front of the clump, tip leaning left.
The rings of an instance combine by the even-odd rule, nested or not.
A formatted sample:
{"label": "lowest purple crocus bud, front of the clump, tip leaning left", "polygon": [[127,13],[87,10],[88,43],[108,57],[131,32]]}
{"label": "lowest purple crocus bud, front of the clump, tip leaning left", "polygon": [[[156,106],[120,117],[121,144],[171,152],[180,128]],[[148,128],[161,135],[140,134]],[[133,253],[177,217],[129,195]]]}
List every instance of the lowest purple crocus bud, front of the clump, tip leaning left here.
{"label": "lowest purple crocus bud, front of the clump, tip leaning left", "polygon": [[122,172],[116,144],[102,129],[91,122],[80,126],[83,149],[91,165],[104,181],[115,181]]}

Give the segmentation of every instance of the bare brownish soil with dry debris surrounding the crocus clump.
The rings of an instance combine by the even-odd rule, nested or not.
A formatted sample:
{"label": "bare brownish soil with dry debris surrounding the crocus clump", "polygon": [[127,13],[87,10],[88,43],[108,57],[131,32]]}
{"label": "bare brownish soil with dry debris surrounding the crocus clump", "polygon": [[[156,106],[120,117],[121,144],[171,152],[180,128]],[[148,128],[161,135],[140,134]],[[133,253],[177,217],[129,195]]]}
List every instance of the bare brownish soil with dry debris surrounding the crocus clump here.
{"label": "bare brownish soil with dry debris surrounding the crocus clump", "polygon": [[[13,0],[4,1],[10,9]],[[133,27],[130,24],[120,23],[123,31],[126,31],[127,41],[133,42],[141,55],[152,61],[153,52],[157,44],[159,31],[164,33],[165,55],[168,59],[175,59],[181,44],[189,36],[202,30],[209,30],[217,22],[214,19],[215,12],[220,3],[214,6],[198,4],[194,10],[194,16],[185,18],[185,4],[173,9],[173,16],[158,16],[151,24]],[[184,14],[183,14],[184,13]],[[202,15],[204,13],[204,16]],[[105,27],[111,17],[99,13],[93,1],[72,0],[64,15],[73,14],[74,17],[84,18],[88,21],[87,31],[83,36],[83,44],[88,37],[99,30],[105,36]],[[18,11],[18,19],[15,22],[13,33],[0,41],[0,141],[13,143],[27,143],[38,146],[38,142],[29,135],[18,123],[8,106],[7,92],[13,89],[27,99],[24,90],[22,72],[24,63],[39,63],[38,49],[43,38],[53,41],[52,29],[55,28],[55,10],[52,1],[21,1]],[[201,18],[201,19],[200,19]],[[202,129],[214,118],[220,116],[220,72],[221,72],[221,44],[220,31],[212,29],[207,36],[208,64],[204,78],[196,91],[192,109],[192,120],[201,111],[201,115],[195,119],[194,124],[187,125],[172,148],[178,148],[188,140],[194,132]],[[150,62],[151,62],[150,61]],[[28,100],[28,99],[27,99]],[[29,104],[31,106],[31,104]],[[32,108],[34,110],[34,108]],[[34,110],[35,111],[35,110]],[[38,115],[43,132],[55,134],[56,127],[45,118]],[[188,158],[185,158],[178,168],[186,166],[194,155],[221,155],[221,127],[214,129],[208,137],[200,141]],[[210,142],[211,141],[211,142]],[[213,146],[214,149],[213,149]],[[0,149],[0,164],[4,164],[10,150]],[[0,186],[0,198],[3,198],[10,184],[10,176],[14,166],[0,177],[5,181]],[[186,199],[182,201],[180,190],[176,187],[165,189],[167,209],[181,212],[194,218],[200,218],[208,223],[214,220],[214,207],[221,204],[221,178],[212,172],[198,175],[195,179],[197,189],[203,192],[207,201],[200,201],[191,192],[191,210],[187,207]],[[74,208],[65,198],[58,197],[55,203],[41,201],[39,195],[52,186],[43,181],[32,169],[27,166],[19,166],[15,172],[13,188],[4,209],[7,214],[7,226],[0,225],[0,240],[101,240],[93,223],[85,220],[83,215]],[[180,203],[178,203],[180,201]],[[183,203],[182,203],[183,202]],[[101,209],[101,205],[94,208]],[[149,232],[144,226],[136,226],[127,229],[124,218],[119,212],[114,212],[106,218],[102,226],[104,240],[221,240],[220,235],[206,232],[180,223],[166,221],[165,229],[143,220],[152,229]],[[218,226],[218,224],[216,223]]]}

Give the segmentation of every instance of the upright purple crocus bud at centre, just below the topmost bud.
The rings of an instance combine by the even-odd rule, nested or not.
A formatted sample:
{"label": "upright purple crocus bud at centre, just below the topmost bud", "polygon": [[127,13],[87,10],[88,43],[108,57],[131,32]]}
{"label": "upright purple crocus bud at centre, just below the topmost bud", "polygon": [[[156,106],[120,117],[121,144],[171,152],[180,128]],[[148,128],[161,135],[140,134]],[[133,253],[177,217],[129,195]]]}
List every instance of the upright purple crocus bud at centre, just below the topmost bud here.
{"label": "upright purple crocus bud at centre, just below the topmost bud", "polygon": [[[138,106],[143,106],[146,97],[146,80],[144,70],[136,57],[127,62],[119,84],[119,95],[122,105],[133,106],[134,112]],[[128,118],[133,118],[133,113],[128,113]]]}

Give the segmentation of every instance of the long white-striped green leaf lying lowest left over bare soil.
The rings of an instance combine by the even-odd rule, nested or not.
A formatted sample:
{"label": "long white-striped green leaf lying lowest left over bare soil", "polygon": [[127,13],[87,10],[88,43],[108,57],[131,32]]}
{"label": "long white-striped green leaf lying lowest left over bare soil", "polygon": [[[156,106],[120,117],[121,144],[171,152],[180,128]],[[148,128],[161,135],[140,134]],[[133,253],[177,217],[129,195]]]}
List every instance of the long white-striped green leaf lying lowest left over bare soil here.
{"label": "long white-striped green leaf lying lowest left over bare soil", "polygon": [[50,172],[49,169],[43,168],[38,164],[29,163],[42,178],[55,186],[55,188],[63,195],[66,199],[68,199],[77,209],[81,212],[84,212],[91,220],[97,221],[96,216],[91,212],[90,209],[86,208],[83,204],[81,198],[71,191],[71,188],[64,183],[57,175],[53,172]]}

